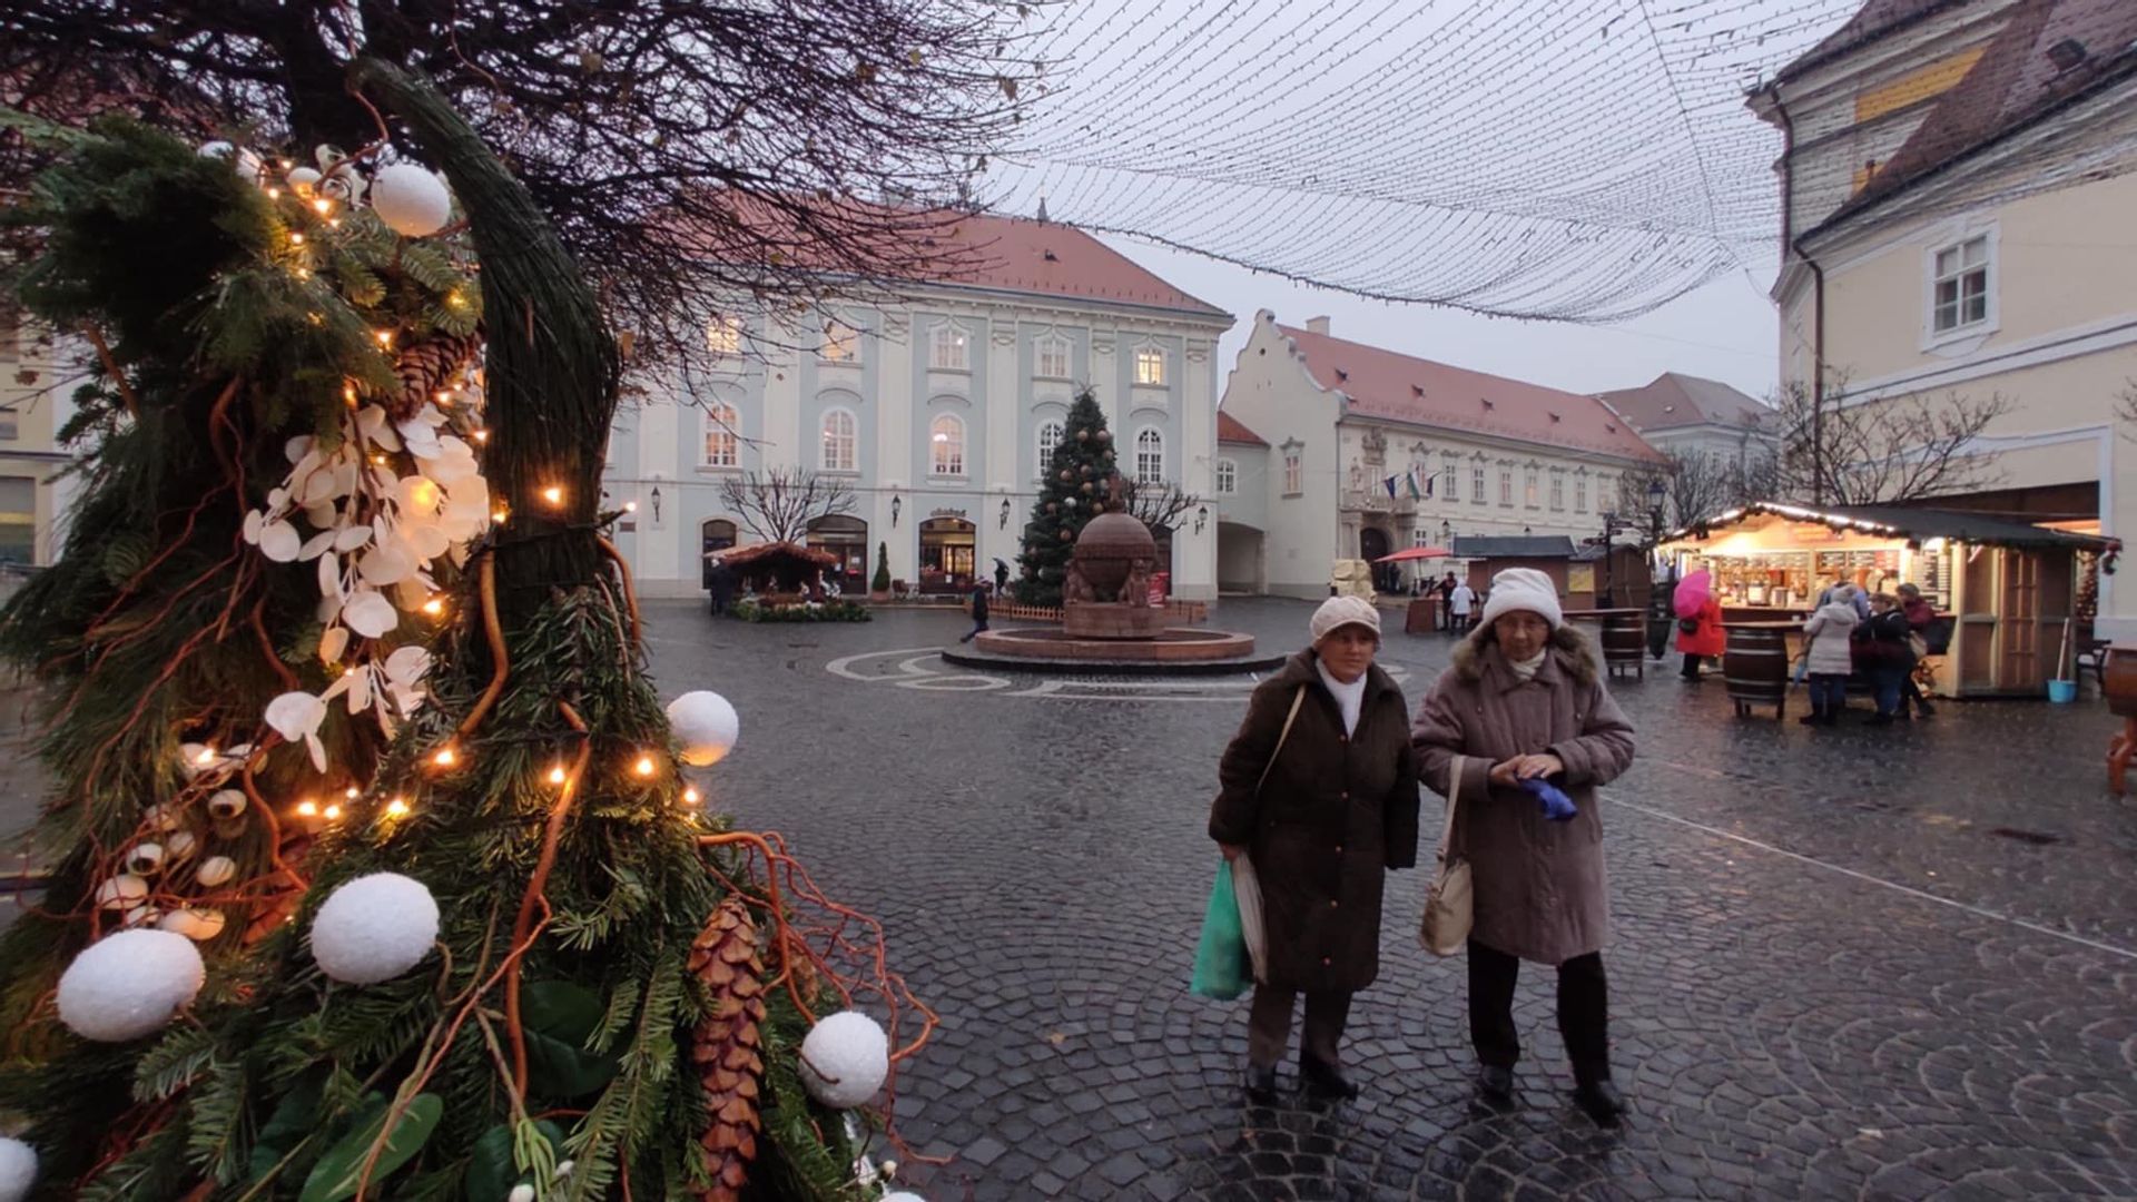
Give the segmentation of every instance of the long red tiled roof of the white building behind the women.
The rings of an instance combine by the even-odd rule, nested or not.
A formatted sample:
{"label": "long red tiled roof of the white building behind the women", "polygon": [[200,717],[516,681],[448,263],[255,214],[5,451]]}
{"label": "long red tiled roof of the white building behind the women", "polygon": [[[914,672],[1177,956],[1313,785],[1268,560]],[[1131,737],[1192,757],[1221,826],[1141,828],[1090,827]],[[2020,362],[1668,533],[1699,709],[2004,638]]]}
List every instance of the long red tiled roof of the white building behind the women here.
{"label": "long red tiled roof of the white building behind the women", "polygon": [[1276,329],[1306,357],[1306,372],[1314,383],[1351,398],[1351,413],[1660,460],[1654,447],[1592,396],[1434,364],[1291,325]]}

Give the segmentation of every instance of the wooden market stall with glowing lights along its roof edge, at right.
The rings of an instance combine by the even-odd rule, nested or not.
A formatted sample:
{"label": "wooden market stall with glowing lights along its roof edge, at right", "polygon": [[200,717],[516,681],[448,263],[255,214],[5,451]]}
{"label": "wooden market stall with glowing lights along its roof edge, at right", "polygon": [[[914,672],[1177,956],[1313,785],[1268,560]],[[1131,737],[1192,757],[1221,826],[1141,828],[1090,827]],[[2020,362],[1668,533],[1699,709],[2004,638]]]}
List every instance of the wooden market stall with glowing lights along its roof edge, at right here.
{"label": "wooden market stall with glowing lights along its roof edge, at right", "polygon": [[1772,500],[1729,509],[1663,543],[1680,573],[1714,573],[1731,629],[1801,620],[1836,580],[1870,592],[1915,584],[1953,627],[1934,678],[1945,697],[2041,695],[2047,680],[2069,676],[2077,558],[2103,556],[2101,569],[2113,571],[2118,550],[2116,539],[1981,513]]}

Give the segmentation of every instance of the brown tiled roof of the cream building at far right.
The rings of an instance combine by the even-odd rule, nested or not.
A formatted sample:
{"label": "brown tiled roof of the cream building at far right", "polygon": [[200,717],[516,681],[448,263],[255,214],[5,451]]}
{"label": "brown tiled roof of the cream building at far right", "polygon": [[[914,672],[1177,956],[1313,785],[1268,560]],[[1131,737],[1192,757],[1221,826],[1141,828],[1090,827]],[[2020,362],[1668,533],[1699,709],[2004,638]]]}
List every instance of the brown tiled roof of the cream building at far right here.
{"label": "brown tiled roof of the cream building at far right", "polygon": [[[2084,47],[2086,60],[2058,66],[2047,51],[2064,41]],[[2030,124],[2088,83],[2131,68],[2137,68],[2137,4],[2131,0],[2022,0],[1981,62],[1938,96],[1921,128],[1840,214],[1891,195]]]}

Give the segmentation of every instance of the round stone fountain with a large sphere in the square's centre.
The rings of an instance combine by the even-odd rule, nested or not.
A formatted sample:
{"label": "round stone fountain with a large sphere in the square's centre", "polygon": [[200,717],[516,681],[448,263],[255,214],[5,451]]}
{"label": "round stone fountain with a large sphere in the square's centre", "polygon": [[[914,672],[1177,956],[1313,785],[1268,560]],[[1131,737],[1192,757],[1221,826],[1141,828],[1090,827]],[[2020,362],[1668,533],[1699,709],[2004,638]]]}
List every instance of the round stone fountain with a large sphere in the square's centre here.
{"label": "round stone fountain with a large sphere in the square's centre", "polygon": [[1276,667],[1284,657],[1254,654],[1254,635],[1177,625],[1171,607],[1150,603],[1158,543],[1128,513],[1101,513],[1077,535],[1062,582],[1060,627],[985,631],[970,650],[942,659],[966,667],[1039,672],[1218,674]]}

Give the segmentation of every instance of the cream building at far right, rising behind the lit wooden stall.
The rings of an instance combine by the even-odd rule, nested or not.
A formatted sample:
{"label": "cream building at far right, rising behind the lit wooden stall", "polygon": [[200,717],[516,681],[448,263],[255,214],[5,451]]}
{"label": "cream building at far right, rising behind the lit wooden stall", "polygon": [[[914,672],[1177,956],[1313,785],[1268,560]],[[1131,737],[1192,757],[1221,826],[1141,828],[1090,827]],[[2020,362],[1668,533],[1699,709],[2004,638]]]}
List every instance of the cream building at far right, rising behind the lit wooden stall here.
{"label": "cream building at far right, rising behind the lit wooden stall", "polygon": [[[2137,4],[1872,0],[1750,103],[1789,141],[1782,387],[2002,400],[1930,503],[2137,530]],[[2137,635],[2137,588],[2096,610]]]}

